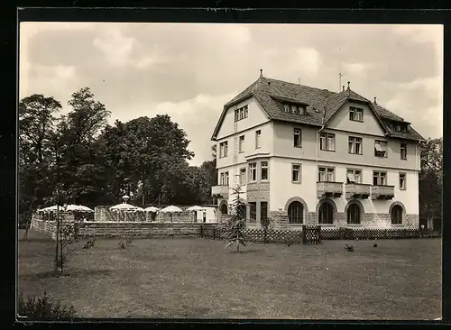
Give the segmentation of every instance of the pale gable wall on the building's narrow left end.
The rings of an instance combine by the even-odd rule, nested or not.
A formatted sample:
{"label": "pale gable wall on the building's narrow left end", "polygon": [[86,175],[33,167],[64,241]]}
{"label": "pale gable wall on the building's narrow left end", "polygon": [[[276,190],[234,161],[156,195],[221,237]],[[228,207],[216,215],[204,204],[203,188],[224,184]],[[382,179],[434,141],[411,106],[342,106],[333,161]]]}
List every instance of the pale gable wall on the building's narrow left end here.
{"label": "pale gable wall on the building's narrow left end", "polygon": [[262,105],[253,96],[245,98],[226,107],[216,129],[216,140],[235,133],[235,110],[242,109],[244,106],[247,106],[247,117],[236,122],[236,132],[242,132],[268,121],[268,115]]}

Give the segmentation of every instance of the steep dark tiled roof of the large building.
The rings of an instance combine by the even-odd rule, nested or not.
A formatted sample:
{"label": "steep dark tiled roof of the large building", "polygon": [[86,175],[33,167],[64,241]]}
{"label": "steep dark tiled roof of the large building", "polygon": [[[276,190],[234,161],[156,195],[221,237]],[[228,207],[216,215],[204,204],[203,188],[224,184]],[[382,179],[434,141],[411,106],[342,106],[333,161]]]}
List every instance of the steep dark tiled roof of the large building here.
{"label": "steep dark tiled roof of the large building", "polygon": [[[264,77],[255,80],[253,84],[226,103],[219,121],[216,124],[212,140],[215,140],[216,138],[216,134],[219,131],[228,107],[251,96],[262,105],[262,109],[266,115],[268,115],[269,119],[315,126],[327,124],[348,100],[362,102],[370,106],[385,133],[403,139],[424,140],[421,135],[413,129],[410,129],[410,132],[392,131],[390,127],[383,124],[384,119],[405,124],[410,123],[405,122],[399,115],[391,113],[381,105],[372,103],[367,98],[364,98],[364,96],[358,95],[351,89],[335,93],[327,89],[308,87]],[[281,100],[308,105],[306,114],[296,115],[283,111]]]}

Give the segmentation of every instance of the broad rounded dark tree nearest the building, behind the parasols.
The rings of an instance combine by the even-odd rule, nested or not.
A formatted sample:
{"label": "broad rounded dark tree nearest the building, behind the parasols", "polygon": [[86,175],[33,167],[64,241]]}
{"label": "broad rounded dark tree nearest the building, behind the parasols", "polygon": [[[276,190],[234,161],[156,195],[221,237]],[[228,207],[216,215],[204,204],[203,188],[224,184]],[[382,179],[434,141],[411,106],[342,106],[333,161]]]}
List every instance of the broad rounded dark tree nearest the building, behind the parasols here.
{"label": "broad rounded dark tree nearest the building, behind the parasols", "polygon": [[106,127],[102,139],[107,167],[118,181],[115,194],[124,188],[133,190],[143,206],[147,200],[187,201],[192,174],[187,160],[194,153],[188,149],[186,133],[169,115],[116,122]]}

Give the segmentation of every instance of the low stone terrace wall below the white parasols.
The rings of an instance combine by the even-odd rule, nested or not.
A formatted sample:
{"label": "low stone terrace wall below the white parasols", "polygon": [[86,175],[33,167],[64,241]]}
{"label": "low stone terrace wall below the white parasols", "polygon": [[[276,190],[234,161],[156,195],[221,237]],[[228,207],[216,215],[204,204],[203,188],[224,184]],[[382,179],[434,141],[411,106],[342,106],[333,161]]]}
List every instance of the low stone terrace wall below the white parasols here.
{"label": "low stone terrace wall below the white parasols", "polygon": [[[203,228],[222,227],[220,224],[189,223],[149,223],[149,222],[84,222],[80,226],[82,237],[121,237],[130,235],[136,238],[157,237],[199,237],[200,226]],[[40,219],[32,220],[32,229],[47,234],[55,239],[54,222]]]}

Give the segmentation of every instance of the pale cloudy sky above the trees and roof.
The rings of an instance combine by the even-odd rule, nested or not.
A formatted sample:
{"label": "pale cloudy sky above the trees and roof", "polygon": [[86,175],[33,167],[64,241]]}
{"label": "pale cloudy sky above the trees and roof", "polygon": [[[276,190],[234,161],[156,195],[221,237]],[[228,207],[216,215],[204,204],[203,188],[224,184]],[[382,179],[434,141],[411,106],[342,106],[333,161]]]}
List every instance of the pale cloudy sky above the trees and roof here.
{"label": "pale cloudy sky above the trees and roof", "polygon": [[170,115],[196,154],[227,101],[260,76],[339,90],[342,85],[442,136],[443,26],[350,24],[21,23],[19,97],[63,105],[89,87],[110,124]]}

